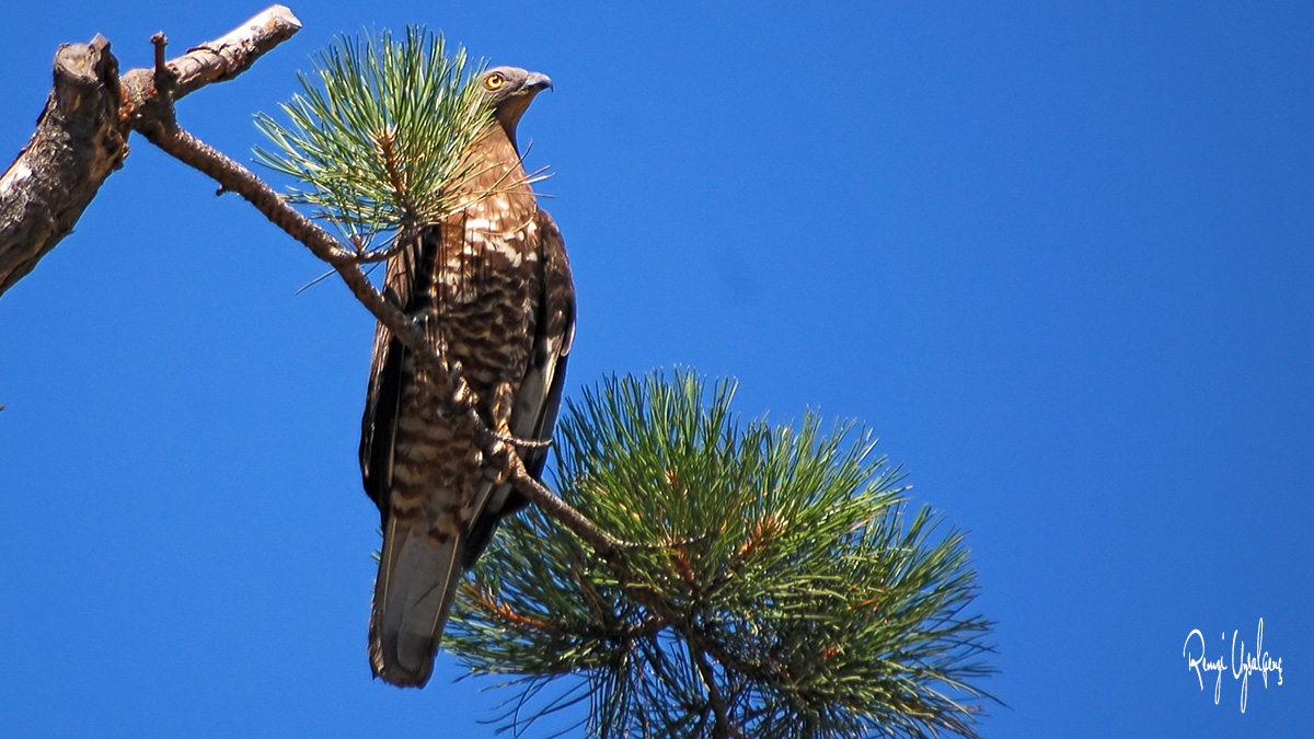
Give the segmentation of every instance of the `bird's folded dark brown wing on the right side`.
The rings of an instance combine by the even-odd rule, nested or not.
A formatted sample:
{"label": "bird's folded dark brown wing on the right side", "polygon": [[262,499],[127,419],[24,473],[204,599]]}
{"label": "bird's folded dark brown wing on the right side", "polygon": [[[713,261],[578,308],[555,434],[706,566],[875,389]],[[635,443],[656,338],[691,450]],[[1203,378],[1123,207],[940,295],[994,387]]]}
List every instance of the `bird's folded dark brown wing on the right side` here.
{"label": "bird's folded dark brown wing on the right side", "polygon": [[[535,325],[533,351],[515,396],[510,426],[511,434],[518,439],[547,442],[552,439],[552,429],[557,423],[566,360],[574,343],[576,301],[565,242],[556,221],[541,208],[537,212],[537,226],[539,263],[543,270],[539,280],[539,317]],[[548,447],[522,448],[520,459],[530,475],[541,479],[543,467],[548,460]],[[520,510],[527,502],[509,484],[493,489],[487,504],[482,506],[470,526],[461,554],[461,567],[473,565],[493,539],[498,521]]]}

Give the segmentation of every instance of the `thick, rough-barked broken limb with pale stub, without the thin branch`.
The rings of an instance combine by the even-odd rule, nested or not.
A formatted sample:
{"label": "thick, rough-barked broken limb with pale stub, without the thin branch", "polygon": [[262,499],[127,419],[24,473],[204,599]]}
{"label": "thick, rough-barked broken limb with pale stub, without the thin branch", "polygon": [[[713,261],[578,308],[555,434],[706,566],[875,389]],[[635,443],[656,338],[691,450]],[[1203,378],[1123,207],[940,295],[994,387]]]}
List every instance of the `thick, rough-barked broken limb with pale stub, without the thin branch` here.
{"label": "thick, rough-barked broken limb with pale stub, without the thin branch", "polygon": [[100,185],[124,166],[127,135],[156,99],[162,68],[171,78],[171,100],[177,100],[235,78],[300,29],[292,11],[273,5],[167,64],[159,58],[155,70],[122,76],[100,34],[91,43],[60,46],[37,130],[0,176],[0,296],[68,235]]}

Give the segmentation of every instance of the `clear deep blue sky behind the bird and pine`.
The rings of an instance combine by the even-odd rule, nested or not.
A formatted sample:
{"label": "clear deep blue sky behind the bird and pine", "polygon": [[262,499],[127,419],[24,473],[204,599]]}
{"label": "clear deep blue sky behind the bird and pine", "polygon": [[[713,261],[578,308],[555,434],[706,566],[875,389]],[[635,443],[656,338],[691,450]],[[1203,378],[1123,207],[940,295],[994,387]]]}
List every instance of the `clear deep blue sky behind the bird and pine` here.
{"label": "clear deep blue sky behind the bird and pine", "polygon": [[[989,736],[1309,734],[1314,7],[996,5],[293,4],[297,37],[179,114],[250,160],[252,113],[367,25],[552,75],[520,130],[576,271],[570,392],[682,364],[745,416],[874,429],[970,531]],[[261,5],[0,8],[13,156],[59,43],[138,67]],[[372,320],[131,146],[0,298],[0,726],[491,735],[451,657],[369,679]],[[1187,635],[1217,659],[1260,618],[1284,684],[1214,705]]]}

